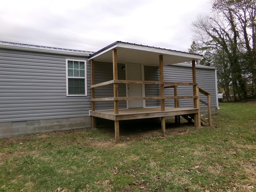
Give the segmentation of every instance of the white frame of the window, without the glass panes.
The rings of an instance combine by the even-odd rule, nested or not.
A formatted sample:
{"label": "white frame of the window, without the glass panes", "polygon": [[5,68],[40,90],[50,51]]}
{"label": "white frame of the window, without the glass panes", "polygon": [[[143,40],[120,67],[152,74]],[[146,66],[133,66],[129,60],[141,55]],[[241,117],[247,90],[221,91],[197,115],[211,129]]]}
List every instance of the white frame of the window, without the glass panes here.
{"label": "white frame of the window, without the glass panes", "polygon": [[[68,61],[80,61],[84,62],[84,77],[69,77],[68,76]],[[66,96],[87,96],[87,72],[86,72],[86,60],[68,59],[66,58]],[[84,79],[84,94],[68,94],[68,79]]]}

